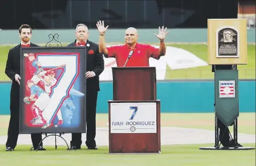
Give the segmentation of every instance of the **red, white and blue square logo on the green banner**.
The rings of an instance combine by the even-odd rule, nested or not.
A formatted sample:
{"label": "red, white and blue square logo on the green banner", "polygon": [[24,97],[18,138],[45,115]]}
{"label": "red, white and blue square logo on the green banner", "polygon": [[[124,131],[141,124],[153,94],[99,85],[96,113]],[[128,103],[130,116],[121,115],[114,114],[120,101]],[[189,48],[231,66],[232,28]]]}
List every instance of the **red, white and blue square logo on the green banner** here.
{"label": "red, white and blue square logo on the green banner", "polygon": [[235,81],[219,81],[219,97],[234,98],[235,97]]}

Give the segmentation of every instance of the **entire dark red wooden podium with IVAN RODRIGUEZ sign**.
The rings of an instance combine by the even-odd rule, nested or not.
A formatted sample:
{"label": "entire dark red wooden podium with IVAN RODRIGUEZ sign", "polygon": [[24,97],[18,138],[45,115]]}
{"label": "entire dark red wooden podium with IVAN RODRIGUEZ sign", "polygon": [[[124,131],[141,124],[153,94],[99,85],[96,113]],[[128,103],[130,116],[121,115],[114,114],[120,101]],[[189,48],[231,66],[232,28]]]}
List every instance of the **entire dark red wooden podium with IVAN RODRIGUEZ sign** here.
{"label": "entire dark red wooden podium with IVAN RODRIGUEZ sign", "polygon": [[109,109],[109,153],[161,153],[155,67],[117,67]]}

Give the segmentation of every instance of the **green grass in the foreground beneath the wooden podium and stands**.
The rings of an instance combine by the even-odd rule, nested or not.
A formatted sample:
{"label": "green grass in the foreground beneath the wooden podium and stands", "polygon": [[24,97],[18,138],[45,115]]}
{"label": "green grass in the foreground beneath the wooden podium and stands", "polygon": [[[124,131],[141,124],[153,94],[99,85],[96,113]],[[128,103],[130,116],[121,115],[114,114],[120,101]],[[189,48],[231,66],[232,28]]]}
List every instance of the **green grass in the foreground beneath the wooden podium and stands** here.
{"label": "green grass in the foreground beneath the wooden podium and stands", "polygon": [[[27,151],[30,146],[19,146],[17,151],[0,151],[1,165],[74,165],[74,166],[162,166],[162,165],[255,165],[255,150],[250,151],[204,151],[199,147],[212,144],[162,146],[161,155],[109,155],[108,147],[97,151],[67,151],[66,147],[46,147],[47,151]],[[255,144],[245,144],[255,147]],[[3,150],[5,147],[0,146]]]}

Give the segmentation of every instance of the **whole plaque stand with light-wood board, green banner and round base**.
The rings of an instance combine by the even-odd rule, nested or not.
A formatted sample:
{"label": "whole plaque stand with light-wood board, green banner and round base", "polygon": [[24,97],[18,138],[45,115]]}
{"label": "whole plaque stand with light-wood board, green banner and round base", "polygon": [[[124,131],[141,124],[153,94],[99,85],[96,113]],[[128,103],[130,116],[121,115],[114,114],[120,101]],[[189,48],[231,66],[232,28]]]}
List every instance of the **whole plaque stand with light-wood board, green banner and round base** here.
{"label": "whole plaque stand with light-wood board, green banner and round base", "polygon": [[[246,19],[208,19],[208,64],[214,72],[215,145],[201,150],[252,150],[238,146],[239,79],[237,65],[247,64]],[[219,124],[222,123],[222,124]],[[233,126],[233,146],[221,147],[220,126]]]}

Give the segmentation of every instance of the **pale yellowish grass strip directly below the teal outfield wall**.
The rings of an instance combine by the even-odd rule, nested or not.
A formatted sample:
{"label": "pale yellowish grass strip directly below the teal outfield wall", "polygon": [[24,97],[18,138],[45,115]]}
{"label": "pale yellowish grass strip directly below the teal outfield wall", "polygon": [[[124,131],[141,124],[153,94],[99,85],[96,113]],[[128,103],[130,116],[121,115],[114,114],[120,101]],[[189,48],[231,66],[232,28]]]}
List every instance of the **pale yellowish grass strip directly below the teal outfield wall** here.
{"label": "pale yellowish grass strip directly below the teal outfield wall", "polygon": [[[0,136],[6,135],[9,115],[0,116]],[[240,113],[238,132],[255,134],[255,113]],[[96,127],[108,127],[108,114],[96,115]],[[161,127],[184,127],[214,130],[213,113],[161,113]],[[232,127],[230,127],[232,131]]]}

